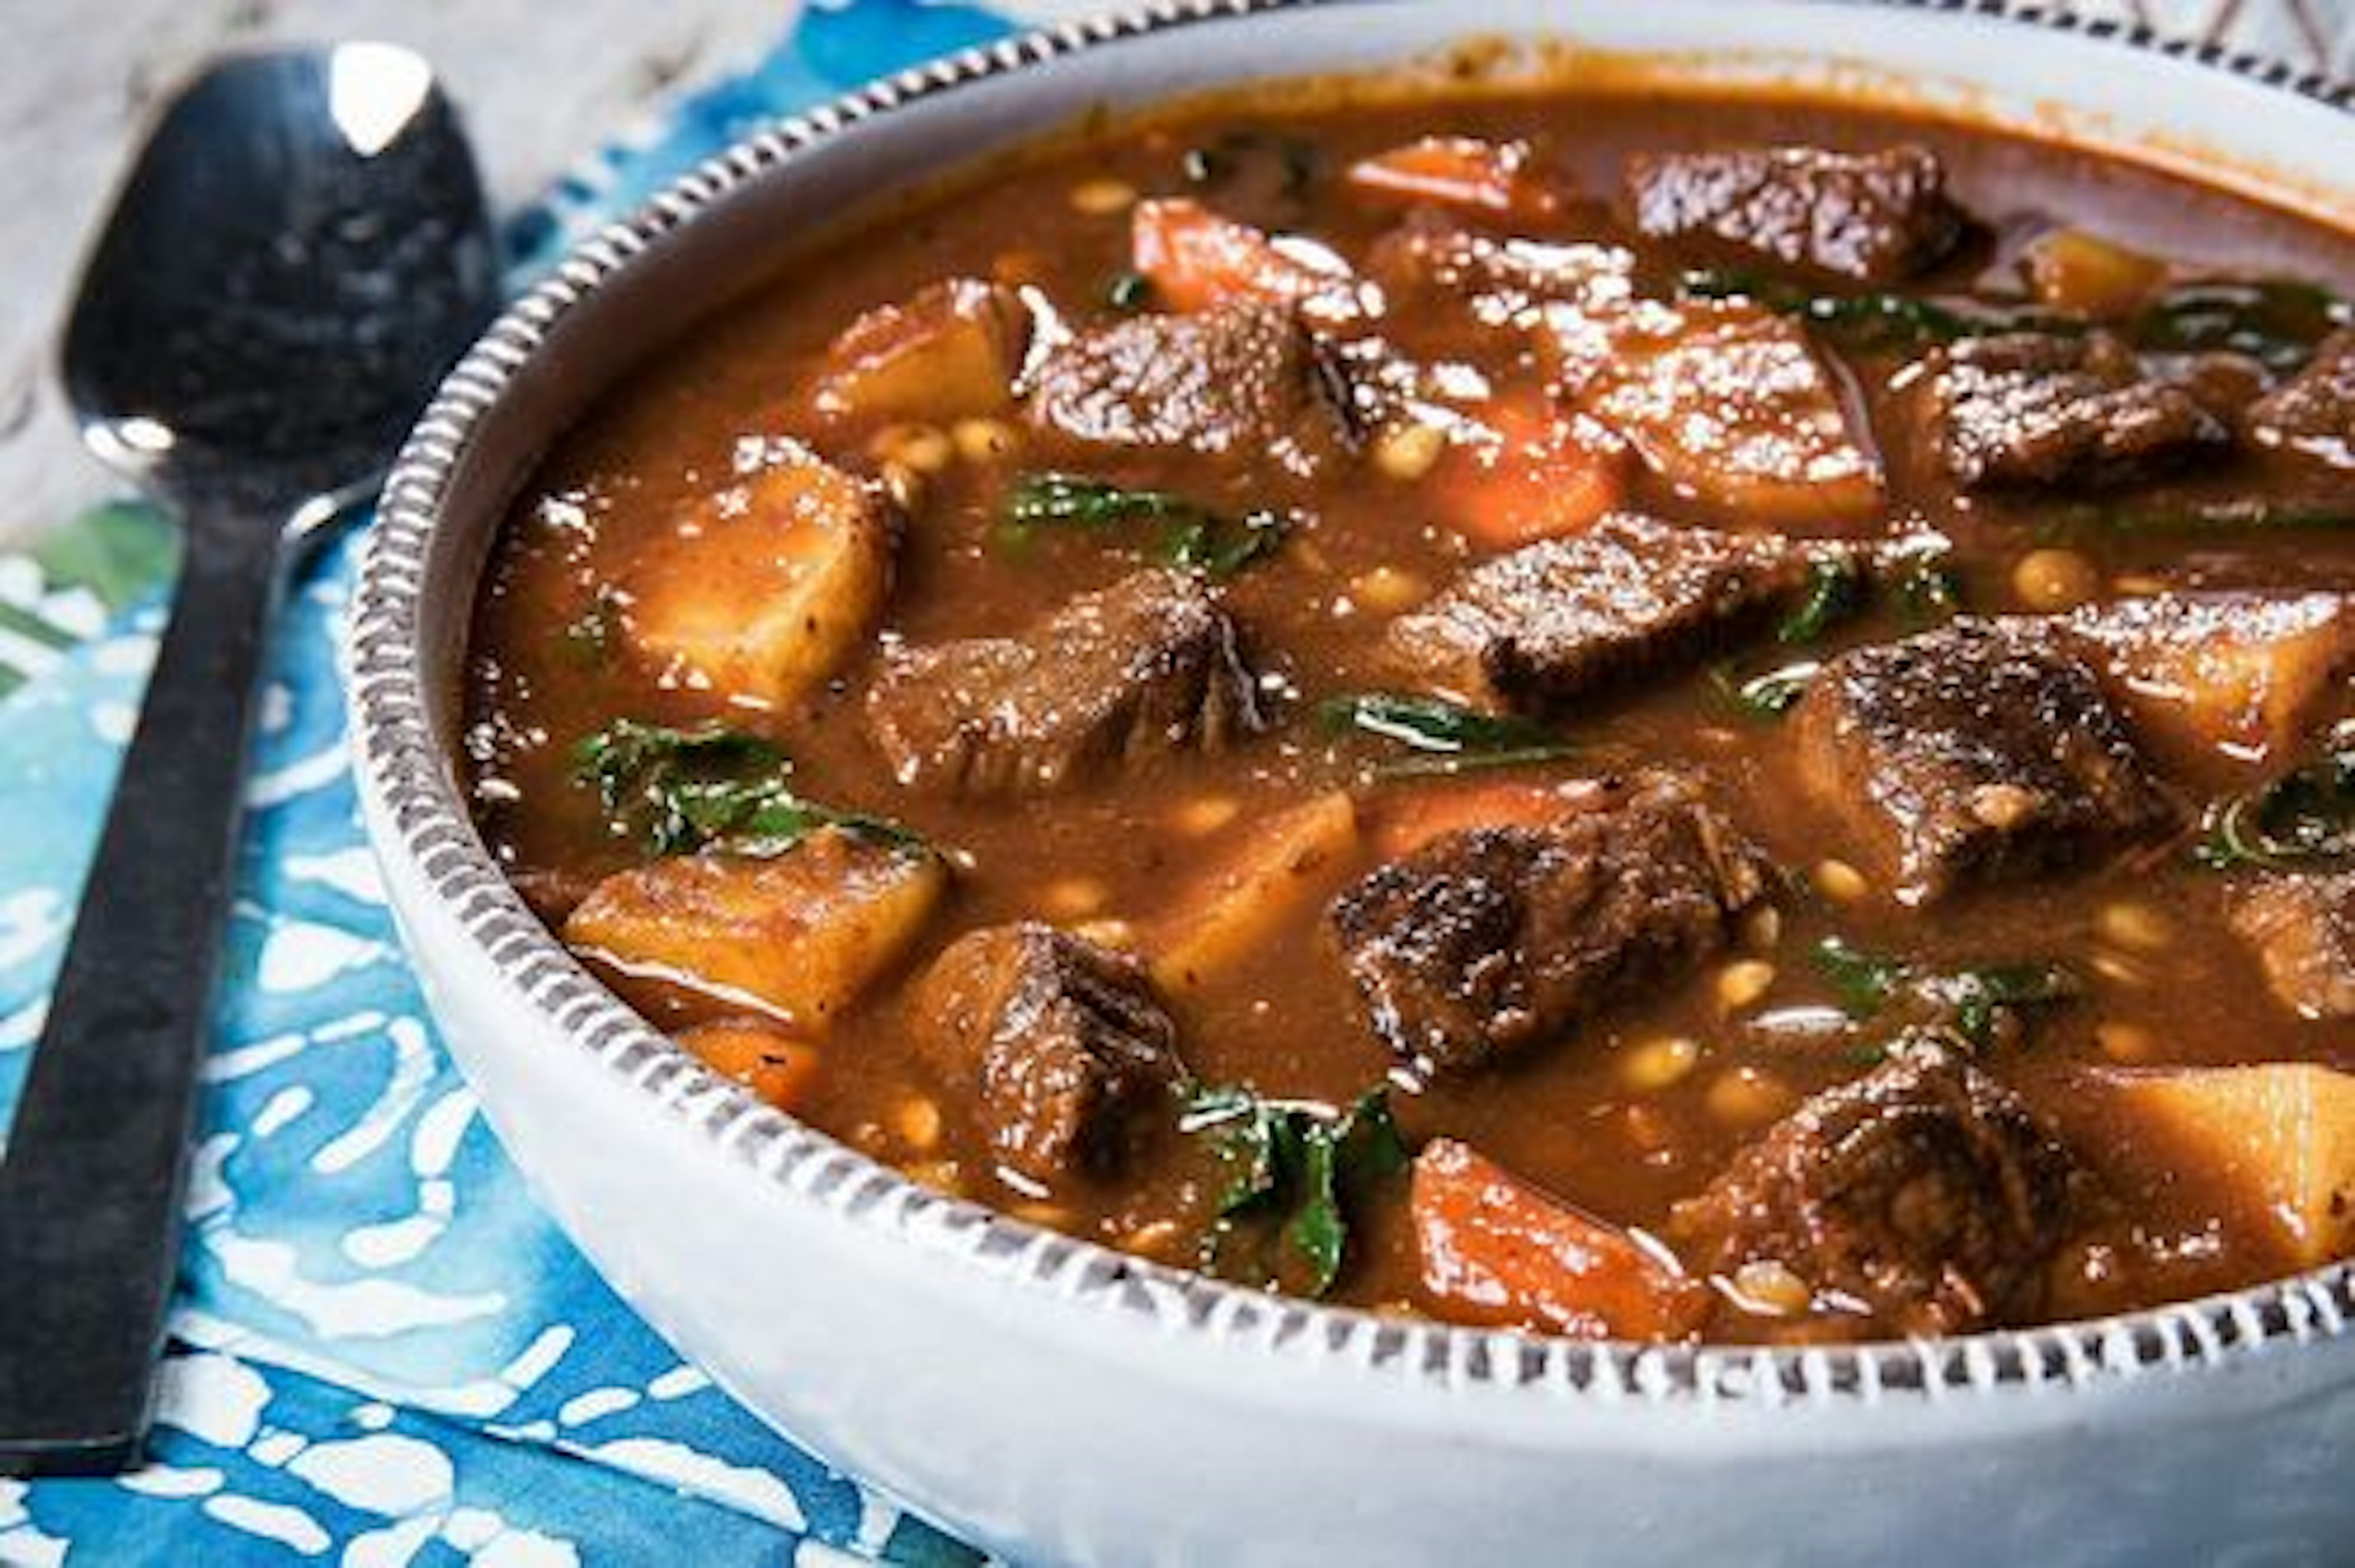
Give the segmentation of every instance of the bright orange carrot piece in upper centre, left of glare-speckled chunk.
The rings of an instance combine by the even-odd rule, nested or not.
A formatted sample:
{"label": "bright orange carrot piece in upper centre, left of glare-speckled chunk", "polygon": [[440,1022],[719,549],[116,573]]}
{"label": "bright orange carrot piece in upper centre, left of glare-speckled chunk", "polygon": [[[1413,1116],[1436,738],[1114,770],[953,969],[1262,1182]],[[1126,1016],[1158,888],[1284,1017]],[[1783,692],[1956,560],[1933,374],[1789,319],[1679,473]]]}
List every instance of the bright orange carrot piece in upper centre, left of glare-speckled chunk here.
{"label": "bright orange carrot piece in upper centre, left of glare-speckled chunk", "polygon": [[1580,534],[1627,497],[1627,447],[1543,396],[1498,398],[1481,424],[1495,440],[1455,443],[1432,471],[1439,520],[1474,544],[1510,551]]}

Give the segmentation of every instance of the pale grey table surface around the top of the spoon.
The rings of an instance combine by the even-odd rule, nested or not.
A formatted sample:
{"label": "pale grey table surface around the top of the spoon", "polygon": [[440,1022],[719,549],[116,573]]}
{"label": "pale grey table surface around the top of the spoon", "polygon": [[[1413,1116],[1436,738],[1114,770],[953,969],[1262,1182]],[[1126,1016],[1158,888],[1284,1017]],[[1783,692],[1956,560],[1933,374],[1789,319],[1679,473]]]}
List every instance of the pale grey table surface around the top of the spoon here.
{"label": "pale grey table surface around the top of the spoon", "polygon": [[[681,85],[754,59],[794,0],[0,0],[0,549],[106,490],[57,393],[57,327],[130,148],[219,49],[384,38],[443,73],[502,210]],[[532,59],[530,71],[516,68]],[[31,155],[28,155],[31,153]]]}

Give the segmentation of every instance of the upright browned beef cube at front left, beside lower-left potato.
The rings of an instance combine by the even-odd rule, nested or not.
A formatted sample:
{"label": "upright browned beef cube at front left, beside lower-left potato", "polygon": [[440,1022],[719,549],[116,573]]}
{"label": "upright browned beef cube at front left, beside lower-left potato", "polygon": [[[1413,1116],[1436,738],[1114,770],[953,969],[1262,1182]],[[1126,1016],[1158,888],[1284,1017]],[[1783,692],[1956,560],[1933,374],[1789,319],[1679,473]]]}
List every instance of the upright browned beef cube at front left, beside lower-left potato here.
{"label": "upright browned beef cube at front left, beside lower-left potato", "polygon": [[989,1149],[1055,1182],[1112,1175],[1182,1076],[1145,970],[1050,925],[956,939],[916,991],[916,1041]]}

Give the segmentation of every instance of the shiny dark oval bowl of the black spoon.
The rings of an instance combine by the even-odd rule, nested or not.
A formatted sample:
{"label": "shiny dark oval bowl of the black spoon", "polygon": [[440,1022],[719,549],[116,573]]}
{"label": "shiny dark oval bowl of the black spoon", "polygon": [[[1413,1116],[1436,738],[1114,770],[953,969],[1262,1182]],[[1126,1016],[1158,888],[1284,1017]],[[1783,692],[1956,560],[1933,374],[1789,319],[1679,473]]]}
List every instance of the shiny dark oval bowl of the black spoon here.
{"label": "shiny dark oval bowl of the black spoon", "polygon": [[66,396],[89,447],[162,499],[226,487],[330,516],[495,299],[480,179],[417,54],[238,57],[172,104],[122,186]]}

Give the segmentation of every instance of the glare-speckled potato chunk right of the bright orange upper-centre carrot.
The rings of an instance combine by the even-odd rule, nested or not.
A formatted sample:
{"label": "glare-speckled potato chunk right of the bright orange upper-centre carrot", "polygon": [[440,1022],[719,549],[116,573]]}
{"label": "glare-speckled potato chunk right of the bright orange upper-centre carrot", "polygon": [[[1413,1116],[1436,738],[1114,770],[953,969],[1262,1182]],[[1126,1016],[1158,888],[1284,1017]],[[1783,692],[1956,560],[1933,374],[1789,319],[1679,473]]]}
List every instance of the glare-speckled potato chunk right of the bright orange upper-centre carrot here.
{"label": "glare-speckled potato chunk right of the bright orange upper-centre carrot", "polygon": [[1745,520],[1858,523],[1882,504],[1806,332],[1752,306],[1630,311],[1580,403],[1670,485]]}

